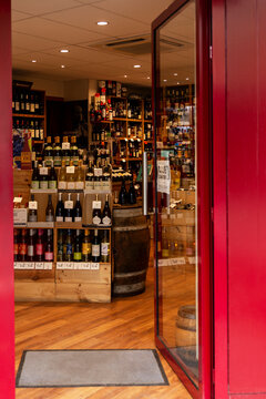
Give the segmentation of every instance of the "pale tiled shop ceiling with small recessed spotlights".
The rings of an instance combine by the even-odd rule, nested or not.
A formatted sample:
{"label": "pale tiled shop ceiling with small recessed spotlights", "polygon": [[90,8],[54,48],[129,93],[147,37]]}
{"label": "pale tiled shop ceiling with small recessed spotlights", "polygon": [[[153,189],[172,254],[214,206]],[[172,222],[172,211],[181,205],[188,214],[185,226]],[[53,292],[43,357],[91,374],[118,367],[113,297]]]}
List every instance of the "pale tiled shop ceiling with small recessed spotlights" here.
{"label": "pale tiled shop ceiling with small recessed spotlights", "polygon": [[[61,81],[89,78],[150,85],[151,52],[121,52],[102,44],[145,35],[150,45],[151,23],[171,3],[172,0],[12,0],[13,70]],[[190,7],[181,17],[185,27],[193,24]],[[99,27],[98,21],[109,24]],[[181,29],[180,20],[178,24],[165,27],[163,33],[173,40],[193,42],[194,31]],[[68,49],[69,53],[62,54],[60,49]],[[185,80],[187,73],[193,73],[187,66],[194,47],[186,45],[176,54],[165,53],[165,73],[180,69],[178,79]],[[134,64],[142,68],[134,69]]]}

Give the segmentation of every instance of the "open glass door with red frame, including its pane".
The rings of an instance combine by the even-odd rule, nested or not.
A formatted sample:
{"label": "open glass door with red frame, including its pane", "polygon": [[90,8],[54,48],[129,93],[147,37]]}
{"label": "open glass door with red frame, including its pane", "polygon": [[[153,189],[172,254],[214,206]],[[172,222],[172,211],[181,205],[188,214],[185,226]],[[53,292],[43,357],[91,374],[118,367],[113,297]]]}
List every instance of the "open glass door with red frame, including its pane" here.
{"label": "open glass door with red frame, including its pane", "polygon": [[198,3],[176,0],[153,23],[155,339],[193,397],[208,398],[209,44]]}

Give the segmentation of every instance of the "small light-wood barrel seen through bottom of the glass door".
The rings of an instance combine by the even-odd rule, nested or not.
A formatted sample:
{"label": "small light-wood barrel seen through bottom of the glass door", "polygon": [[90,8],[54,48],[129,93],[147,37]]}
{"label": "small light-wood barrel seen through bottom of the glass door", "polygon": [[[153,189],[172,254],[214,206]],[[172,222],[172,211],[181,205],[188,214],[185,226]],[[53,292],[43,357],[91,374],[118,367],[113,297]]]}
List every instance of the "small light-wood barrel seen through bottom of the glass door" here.
{"label": "small light-wood barrel seen through bottom of the glass door", "polygon": [[177,347],[192,347],[196,345],[196,308],[194,305],[185,305],[178,308],[175,326]]}

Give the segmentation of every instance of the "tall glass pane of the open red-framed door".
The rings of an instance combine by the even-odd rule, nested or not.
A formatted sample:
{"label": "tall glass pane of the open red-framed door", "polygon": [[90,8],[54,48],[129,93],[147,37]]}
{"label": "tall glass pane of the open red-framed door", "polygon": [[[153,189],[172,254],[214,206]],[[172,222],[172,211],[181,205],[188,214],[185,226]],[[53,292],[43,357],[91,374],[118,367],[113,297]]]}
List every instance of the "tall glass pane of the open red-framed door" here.
{"label": "tall glass pane of the open red-framed door", "polygon": [[198,386],[195,1],[160,29],[158,337]]}

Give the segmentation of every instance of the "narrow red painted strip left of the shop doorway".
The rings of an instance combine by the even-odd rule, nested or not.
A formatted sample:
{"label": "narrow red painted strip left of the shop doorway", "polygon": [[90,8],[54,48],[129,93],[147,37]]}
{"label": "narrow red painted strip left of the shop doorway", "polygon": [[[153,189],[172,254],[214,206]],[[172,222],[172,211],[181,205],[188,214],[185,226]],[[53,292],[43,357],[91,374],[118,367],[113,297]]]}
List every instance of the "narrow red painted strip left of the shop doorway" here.
{"label": "narrow red painted strip left of the shop doorway", "polygon": [[0,399],[14,398],[11,11],[0,0]]}

